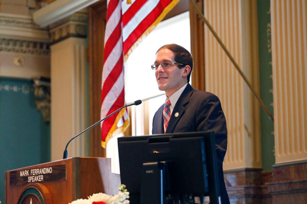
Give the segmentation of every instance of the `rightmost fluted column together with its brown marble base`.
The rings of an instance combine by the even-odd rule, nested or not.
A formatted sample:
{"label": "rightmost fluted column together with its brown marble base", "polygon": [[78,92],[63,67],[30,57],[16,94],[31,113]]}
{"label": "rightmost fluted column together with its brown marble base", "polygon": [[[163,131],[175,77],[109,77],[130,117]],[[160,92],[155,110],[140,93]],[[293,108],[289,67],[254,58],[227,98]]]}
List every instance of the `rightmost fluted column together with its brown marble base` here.
{"label": "rightmost fluted column together with its brown marble base", "polygon": [[271,0],[273,203],[307,203],[307,0]]}

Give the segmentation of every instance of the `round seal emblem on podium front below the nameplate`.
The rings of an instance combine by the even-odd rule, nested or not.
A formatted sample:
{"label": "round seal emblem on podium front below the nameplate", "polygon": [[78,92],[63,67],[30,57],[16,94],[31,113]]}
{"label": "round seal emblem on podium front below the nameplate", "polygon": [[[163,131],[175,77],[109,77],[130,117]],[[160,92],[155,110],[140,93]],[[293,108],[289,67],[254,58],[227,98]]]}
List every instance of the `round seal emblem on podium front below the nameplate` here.
{"label": "round seal emblem on podium front below the nameplate", "polygon": [[22,189],[17,204],[53,204],[53,202],[45,185],[31,183]]}

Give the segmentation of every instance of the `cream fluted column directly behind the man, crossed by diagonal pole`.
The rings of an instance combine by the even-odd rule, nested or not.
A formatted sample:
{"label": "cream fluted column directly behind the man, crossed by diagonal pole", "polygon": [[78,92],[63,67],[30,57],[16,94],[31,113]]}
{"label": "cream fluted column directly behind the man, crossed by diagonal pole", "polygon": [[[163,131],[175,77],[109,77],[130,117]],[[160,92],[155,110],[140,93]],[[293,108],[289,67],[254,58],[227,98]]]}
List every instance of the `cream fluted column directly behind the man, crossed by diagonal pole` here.
{"label": "cream fluted column directly behind the man, crossed by diagonal pole", "polygon": [[[204,1],[205,17],[259,92],[256,1]],[[261,168],[259,106],[205,26],[206,91],[222,103],[228,130],[223,169]]]}

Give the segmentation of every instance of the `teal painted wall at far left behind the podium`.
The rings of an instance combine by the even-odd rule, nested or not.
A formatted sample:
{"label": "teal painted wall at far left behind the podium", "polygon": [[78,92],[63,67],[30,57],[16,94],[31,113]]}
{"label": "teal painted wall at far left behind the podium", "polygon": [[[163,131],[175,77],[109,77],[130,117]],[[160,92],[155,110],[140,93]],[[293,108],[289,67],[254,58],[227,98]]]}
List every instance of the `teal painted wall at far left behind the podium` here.
{"label": "teal painted wall at far left behind the podium", "polygon": [[50,161],[50,125],[36,109],[31,80],[0,77],[0,201],[4,172]]}

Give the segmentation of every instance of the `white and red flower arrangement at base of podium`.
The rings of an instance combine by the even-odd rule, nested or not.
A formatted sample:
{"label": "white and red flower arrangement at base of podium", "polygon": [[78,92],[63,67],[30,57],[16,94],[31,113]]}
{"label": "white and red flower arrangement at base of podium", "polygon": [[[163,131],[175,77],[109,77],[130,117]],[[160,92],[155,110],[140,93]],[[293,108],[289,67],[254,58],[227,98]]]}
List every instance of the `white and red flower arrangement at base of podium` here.
{"label": "white and red flower arrangement at base of podium", "polygon": [[[78,199],[69,204],[129,204],[129,192],[124,184],[118,187],[117,195],[107,195],[105,193],[95,193],[88,196],[88,199]],[[1,204],[1,203],[0,203]]]}

